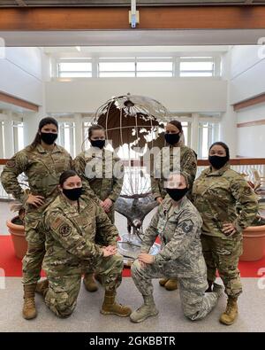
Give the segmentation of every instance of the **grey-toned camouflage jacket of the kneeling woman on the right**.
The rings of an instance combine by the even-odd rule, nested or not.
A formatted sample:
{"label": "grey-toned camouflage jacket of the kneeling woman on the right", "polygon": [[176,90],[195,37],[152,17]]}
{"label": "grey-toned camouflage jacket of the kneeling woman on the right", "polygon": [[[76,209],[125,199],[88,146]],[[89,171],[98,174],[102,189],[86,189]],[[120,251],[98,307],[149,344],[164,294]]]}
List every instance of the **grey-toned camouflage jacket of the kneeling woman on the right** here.
{"label": "grey-toned camouflage jacket of the kneeling woman on the right", "polygon": [[161,252],[155,255],[155,262],[179,261],[188,267],[201,256],[201,215],[191,201],[184,197],[172,211],[171,198],[165,198],[146,229],[141,246],[148,252],[160,237]]}

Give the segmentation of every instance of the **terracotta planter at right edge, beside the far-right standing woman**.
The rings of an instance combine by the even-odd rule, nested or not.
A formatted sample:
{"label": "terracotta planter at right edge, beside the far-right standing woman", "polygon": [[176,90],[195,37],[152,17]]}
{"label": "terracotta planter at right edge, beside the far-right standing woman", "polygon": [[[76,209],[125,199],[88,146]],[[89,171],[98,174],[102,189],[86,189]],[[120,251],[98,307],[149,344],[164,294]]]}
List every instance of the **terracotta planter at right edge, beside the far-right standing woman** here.
{"label": "terracotta planter at right edge, beside the far-right standing woman", "polygon": [[265,255],[265,225],[249,226],[243,231],[240,261],[259,261]]}

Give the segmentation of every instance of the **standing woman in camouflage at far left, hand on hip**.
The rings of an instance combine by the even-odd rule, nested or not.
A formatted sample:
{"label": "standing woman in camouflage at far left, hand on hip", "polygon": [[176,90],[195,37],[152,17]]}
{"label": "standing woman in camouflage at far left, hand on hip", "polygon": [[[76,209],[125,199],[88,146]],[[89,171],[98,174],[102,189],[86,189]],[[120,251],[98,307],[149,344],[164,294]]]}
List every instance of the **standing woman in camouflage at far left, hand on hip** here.
{"label": "standing woman in camouflage at far left, hand on hip", "polygon": [[[55,144],[57,130],[58,124],[55,119],[42,119],[34,142],[8,160],[1,175],[4,190],[26,206],[27,254],[23,259],[22,283],[23,317],[27,320],[37,315],[34,293],[45,253],[42,214],[59,193],[57,184],[60,175],[72,167],[70,154]],[[22,173],[27,175],[29,194],[19,185],[18,176]]]}

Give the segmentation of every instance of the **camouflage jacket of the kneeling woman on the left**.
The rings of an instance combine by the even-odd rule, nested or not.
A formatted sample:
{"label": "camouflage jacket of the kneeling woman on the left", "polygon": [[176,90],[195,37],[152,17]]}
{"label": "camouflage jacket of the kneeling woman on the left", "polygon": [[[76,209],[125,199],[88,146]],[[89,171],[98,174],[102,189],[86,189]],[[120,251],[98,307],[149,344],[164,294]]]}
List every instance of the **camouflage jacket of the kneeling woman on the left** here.
{"label": "camouflage jacket of the kneeling woman on the left", "polygon": [[44,212],[46,229],[45,270],[60,271],[66,267],[79,267],[82,261],[103,257],[96,230],[105,237],[105,245],[117,245],[117,228],[91,198],[81,196],[79,206],[72,206],[60,194]]}

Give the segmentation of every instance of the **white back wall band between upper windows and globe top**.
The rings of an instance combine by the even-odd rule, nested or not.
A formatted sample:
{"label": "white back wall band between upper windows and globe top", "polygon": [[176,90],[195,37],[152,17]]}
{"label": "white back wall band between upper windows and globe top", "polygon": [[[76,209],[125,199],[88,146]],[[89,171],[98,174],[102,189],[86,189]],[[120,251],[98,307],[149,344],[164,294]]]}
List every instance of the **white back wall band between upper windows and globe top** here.
{"label": "white back wall band between upper windows and globe top", "polygon": [[48,113],[95,112],[111,97],[128,92],[153,97],[171,112],[226,110],[227,82],[220,78],[90,78],[45,85]]}

